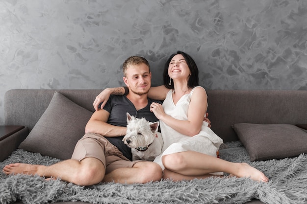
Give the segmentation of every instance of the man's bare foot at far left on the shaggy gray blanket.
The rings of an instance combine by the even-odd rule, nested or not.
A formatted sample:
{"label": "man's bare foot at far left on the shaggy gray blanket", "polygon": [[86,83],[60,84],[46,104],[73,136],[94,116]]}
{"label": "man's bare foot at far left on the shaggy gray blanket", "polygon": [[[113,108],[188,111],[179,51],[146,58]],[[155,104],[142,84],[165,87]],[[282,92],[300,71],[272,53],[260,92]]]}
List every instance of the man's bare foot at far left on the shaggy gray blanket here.
{"label": "man's bare foot at far left on the shaggy gray blanket", "polygon": [[40,165],[35,164],[26,164],[26,163],[11,163],[4,166],[3,172],[6,175],[9,174],[26,174],[26,175],[35,175],[37,173],[37,168]]}

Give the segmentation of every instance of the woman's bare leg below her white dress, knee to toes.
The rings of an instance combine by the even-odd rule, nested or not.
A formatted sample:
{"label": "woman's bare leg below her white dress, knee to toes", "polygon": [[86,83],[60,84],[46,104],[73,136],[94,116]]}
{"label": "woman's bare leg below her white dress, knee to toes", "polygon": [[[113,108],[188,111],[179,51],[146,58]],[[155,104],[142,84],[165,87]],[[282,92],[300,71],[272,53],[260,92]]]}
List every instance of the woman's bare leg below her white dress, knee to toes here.
{"label": "woman's bare leg below her white dress, knee to toes", "polygon": [[268,181],[262,172],[247,163],[233,163],[194,151],[165,155],[162,162],[167,170],[183,176],[203,177],[214,172],[226,172],[254,181]]}

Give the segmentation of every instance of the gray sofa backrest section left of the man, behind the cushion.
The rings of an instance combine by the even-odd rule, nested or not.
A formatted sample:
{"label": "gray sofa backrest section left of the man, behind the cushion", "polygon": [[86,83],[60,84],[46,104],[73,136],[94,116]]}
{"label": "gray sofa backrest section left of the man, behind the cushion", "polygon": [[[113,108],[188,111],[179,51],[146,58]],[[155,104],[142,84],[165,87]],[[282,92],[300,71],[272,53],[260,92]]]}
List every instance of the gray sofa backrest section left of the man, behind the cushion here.
{"label": "gray sofa backrest section left of the man, behind the cushion", "polygon": [[4,95],[5,125],[24,125],[29,131],[47,109],[55,91],[94,113],[93,102],[101,90],[9,90]]}

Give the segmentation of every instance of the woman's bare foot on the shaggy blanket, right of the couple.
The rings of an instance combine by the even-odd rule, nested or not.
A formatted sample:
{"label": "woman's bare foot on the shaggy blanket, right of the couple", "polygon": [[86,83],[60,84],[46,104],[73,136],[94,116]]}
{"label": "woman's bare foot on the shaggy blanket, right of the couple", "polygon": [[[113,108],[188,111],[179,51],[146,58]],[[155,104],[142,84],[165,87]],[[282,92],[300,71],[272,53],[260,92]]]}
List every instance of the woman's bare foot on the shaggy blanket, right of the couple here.
{"label": "woman's bare foot on the shaggy blanket, right of the couple", "polygon": [[259,182],[269,181],[269,179],[261,171],[248,165],[247,163],[238,163],[238,165],[240,166],[235,176],[241,178],[250,178],[254,181],[259,181]]}

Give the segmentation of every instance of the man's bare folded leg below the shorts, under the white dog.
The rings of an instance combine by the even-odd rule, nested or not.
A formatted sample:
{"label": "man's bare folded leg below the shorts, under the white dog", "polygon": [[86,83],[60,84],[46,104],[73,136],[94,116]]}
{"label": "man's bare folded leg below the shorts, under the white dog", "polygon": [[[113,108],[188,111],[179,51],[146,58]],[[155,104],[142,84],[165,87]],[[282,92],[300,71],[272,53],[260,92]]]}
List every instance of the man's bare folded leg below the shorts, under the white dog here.
{"label": "man's bare folded leg below the shorts, under the white dog", "polygon": [[[128,161],[133,163],[133,161]],[[116,168],[106,174],[104,182],[146,183],[162,179],[161,167],[152,161],[139,161],[132,167]]]}

